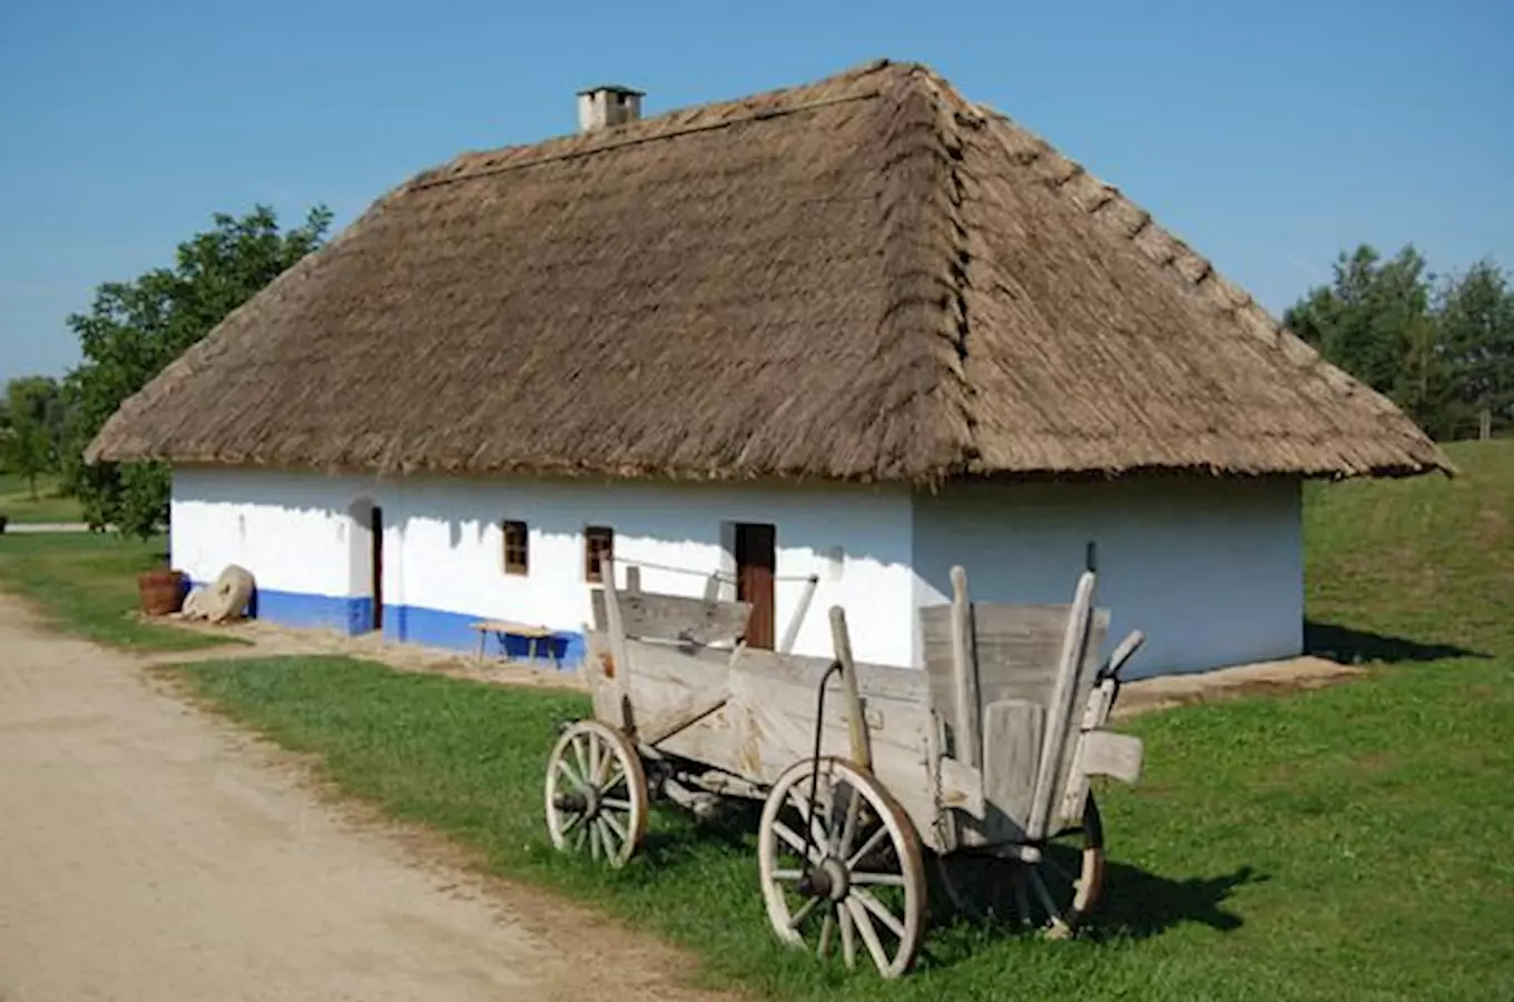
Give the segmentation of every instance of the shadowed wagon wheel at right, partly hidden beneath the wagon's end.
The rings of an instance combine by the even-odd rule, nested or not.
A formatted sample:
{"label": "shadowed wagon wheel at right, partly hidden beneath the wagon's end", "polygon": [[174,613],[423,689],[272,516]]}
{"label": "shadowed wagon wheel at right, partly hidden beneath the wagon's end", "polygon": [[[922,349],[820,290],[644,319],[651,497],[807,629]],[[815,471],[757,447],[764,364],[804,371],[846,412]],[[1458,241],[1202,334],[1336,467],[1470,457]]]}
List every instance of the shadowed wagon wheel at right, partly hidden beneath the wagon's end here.
{"label": "shadowed wagon wheel at right, partly hidden beneath the wagon's end", "polygon": [[1067,938],[1087,919],[1104,888],[1104,822],[1093,795],[1083,825],[1048,839],[1039,863],[980,854],[937,857],[952,905],[975,919],[1013,914],[1048,938]]}

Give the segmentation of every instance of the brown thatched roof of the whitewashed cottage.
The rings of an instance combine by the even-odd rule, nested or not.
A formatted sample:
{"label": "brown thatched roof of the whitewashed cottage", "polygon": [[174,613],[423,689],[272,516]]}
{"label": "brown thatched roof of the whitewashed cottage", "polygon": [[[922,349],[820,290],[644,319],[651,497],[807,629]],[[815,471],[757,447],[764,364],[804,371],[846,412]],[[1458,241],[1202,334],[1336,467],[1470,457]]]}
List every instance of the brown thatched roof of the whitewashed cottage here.
{"label": "brown thatched roof of the whitewashed cottage", "polygon": [[425,171],[91,457],[914,483],[1450,466],[1114,188],[901,64]]}

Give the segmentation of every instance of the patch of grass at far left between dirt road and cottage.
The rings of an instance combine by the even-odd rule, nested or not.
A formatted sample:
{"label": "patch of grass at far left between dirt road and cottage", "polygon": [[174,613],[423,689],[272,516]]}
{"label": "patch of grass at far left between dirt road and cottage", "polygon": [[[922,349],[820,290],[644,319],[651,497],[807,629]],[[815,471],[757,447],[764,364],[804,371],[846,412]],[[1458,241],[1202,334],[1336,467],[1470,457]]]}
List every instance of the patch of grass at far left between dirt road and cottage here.
{"label": "patch of grass at far left between dirt road and cottage", "polygon": [[194,651],[221,637],[141,622],[136,574],[160,566],[164,539],[94,533],[0,536],[0,586],[30,598],[61,628],[114,648]]}

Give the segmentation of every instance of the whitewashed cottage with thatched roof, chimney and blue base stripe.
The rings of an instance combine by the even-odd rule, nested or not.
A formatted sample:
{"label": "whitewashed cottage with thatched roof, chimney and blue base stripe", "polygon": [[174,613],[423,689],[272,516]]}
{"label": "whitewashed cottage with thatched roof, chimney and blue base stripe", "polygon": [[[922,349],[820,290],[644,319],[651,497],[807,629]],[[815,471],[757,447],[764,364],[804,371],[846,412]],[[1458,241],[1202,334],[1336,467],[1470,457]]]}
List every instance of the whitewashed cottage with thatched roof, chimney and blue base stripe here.
{"label": "whitewashed cottage with thatched roof, chimney and blue base stripe", "polygon": [[1291,655],[1301,484],[1449,469],[1117,189],[928,68],[466,153],[380,198],[121,410],[92,459],[173,465],[173,559],[257,615],[581,651],[600,554],[698,574],[772,645],[840,604],[1101,604],[1134,674]]}

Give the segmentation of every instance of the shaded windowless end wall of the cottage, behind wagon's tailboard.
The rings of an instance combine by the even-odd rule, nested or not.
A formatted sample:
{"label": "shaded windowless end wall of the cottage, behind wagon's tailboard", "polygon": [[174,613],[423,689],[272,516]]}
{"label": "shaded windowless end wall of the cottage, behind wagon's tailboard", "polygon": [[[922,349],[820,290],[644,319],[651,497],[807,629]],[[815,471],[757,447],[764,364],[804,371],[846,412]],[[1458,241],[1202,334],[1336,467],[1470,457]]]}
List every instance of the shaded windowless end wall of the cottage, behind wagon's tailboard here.
{"label": "shaded windowless end wall of the cottage, behind wagon's tailboard", "polygon": [[[916,601],[1066,602],[1098,543],[1111,645],[1146,645],[1128,677],[1290,657],[1304,643],[1297,481],[951,484],[914,504]],[[919,654],[916,652],[916,657]]]}

